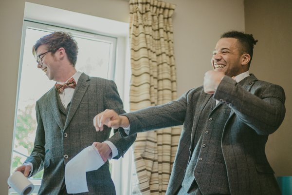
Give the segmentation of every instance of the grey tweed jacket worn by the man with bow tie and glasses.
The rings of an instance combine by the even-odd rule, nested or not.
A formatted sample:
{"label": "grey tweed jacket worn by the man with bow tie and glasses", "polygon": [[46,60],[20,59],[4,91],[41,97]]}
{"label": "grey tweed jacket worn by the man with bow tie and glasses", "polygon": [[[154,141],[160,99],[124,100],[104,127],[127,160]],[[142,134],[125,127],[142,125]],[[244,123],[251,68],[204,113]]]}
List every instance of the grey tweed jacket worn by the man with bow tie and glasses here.
{"label": "grey tweed jacket worn by the man with bow tie and glasses", "polygon": [[[25,162],[33,164],[33,175],[44,169],[39,195],[58,195],[64,188],[66,163],[94,141],[110,140],[118,150],[119,158],[131,146],[135,137],[123,138],[115,131],[96,132],[93,117],[105,109],[124,113],[123,103],[113,81],[89,77],[82,73],[77,81],[63,124],[57,104],[55,87],[44,94],[36,103],[37,134],[34,149]],[[109,138],[110,137],[110,138]],[[65,158],[64,155],[68,155]],[[87,172],[88,193],[84,195],[114,195],[115,187],[110,178],[109,161],[96,171]]]}

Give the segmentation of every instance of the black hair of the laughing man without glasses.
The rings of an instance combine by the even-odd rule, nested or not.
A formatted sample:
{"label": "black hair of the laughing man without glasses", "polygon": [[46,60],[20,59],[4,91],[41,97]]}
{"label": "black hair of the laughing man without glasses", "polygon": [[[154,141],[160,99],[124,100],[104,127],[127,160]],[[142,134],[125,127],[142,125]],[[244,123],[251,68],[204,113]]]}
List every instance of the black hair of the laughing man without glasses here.
{"label": "black hair of the laughing man without glasses", "polygon": [[252,34],[245,34],[239,31],[228,31],[220,36],[220,39],[222,38],[237,39],[241,43],[242,54],[247,53],[251,56],[251,60],[253,59],[254,45],[256,45],[257,40],[254,39]]}

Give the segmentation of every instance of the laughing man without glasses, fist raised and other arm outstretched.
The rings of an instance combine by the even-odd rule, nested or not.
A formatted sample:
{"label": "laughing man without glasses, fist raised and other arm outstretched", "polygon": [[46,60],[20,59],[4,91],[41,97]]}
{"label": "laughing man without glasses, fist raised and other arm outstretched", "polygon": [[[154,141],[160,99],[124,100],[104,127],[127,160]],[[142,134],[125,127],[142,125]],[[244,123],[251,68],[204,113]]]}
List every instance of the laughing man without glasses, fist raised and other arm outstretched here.
{"label": "laughing man without glasses, fist raised and other arm outstretched", "polygon": [[249,74],[257,40],[231,31],[221,35],[203,86],[175,101],[94,118],[124,136],[183,125],[166,195],[280,195],[266,154],[268,136],[285,116],[282,87]]}

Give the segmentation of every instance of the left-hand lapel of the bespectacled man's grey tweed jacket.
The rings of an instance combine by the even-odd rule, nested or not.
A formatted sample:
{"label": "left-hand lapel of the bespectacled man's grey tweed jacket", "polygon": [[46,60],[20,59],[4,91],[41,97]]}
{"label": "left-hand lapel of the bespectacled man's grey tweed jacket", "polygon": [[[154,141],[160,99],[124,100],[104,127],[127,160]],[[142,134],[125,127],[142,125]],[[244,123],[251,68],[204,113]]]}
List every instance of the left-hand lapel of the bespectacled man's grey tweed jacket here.
{"label": "left-hand lapel of the bespectacled man's grey tweed jacket", "polygon": [[58,102],[57,102],[57,91],[55,88],[52,88],[49,93],[48,93],[48,102],[49,102],[49,107],[51,108],[51,111],[53,113],[53,116],[59,125],[59,127],[63,130],[64,129],[64,124],[61,119],[61,115],[59,112],[59,107],[58,107]]}

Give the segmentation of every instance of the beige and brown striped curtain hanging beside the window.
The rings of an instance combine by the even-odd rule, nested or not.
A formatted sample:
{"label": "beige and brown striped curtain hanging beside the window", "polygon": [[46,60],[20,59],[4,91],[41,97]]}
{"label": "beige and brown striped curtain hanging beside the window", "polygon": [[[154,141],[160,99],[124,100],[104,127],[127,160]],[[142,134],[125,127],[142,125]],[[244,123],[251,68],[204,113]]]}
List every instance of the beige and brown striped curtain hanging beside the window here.
{"label": "beige and brown striped curtain hanging beside the window", "polygon": [[[172,14],[175,5],[160,0],[129,0],[130,110],[177,98]],[[133,194],[164,195],[181,128],[139,133],[133,144],[137,182]]]}

